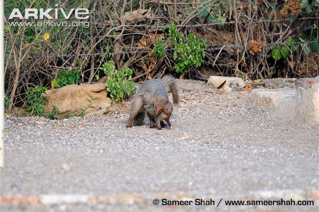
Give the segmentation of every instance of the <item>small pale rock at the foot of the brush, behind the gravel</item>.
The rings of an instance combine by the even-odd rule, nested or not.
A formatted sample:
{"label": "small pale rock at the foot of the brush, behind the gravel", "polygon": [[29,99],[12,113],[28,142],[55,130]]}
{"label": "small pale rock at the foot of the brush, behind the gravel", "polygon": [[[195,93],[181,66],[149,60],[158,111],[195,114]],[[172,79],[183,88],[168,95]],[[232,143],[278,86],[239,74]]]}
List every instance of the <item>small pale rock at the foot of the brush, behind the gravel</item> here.
{"label": "small pale rock at the foot of the brush, behind the gravel", "polygon": [[226,80],[226,84],[228,87],[231,87],[234,90],[240,90],[246,84],[241,78],[236,77],[220,77],[220,76],[211,76],[208,79],[208,84],[213,85],[214,88],[218,88]]}

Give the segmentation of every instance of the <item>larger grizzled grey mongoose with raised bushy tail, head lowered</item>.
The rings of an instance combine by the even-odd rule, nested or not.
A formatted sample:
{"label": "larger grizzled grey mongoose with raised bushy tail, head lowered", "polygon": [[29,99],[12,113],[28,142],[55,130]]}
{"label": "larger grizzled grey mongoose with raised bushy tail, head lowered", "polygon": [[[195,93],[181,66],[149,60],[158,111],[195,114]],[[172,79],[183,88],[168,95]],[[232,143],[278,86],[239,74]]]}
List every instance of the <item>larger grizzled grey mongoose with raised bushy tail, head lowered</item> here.
{"label": "larger grizzled grey mongoose with raised bushy tail, head lowered", "polygon": [[[175,79],[165,75],[162,79],[149,79],[138,90],[133,99],[130,117],[126,127],[142,125],[145,116],[145,106],[154,106],[154,117],[157,117],[169,102],[166,89],[173,95],[174,105],[178,105],[179,96]],[[153,115],[153,114],[152,114]]]}

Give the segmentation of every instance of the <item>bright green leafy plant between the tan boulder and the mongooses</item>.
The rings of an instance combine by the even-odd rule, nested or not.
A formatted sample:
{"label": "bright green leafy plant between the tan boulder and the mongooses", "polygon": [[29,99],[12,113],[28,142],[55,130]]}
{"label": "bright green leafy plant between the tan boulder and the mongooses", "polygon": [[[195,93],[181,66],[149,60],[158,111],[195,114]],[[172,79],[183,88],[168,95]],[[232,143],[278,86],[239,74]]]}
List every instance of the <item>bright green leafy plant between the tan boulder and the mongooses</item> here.
{"label": "bright green leafy plant between the tan boulder and the mongooses", "polygon": [[124,94],[130,96],[134,88],[134,82],[128,81],[132,78],[132,69],[125,67],[122,70],[116,70],[113,60],[109,60],[103,64],[100,69],[102,69],[107,76],[105,83],[106,90],[109,93],[112,104],[114,100],[118,102],[120,99],[123,99]]}

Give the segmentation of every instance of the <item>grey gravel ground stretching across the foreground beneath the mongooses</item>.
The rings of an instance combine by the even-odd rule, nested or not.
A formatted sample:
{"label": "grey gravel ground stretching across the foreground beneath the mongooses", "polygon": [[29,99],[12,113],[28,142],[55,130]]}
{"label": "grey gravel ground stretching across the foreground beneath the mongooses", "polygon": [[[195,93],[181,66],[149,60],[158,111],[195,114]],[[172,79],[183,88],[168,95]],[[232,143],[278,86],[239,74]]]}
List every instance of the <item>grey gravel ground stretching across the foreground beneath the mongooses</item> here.
{"label": "grey gravel ground stretching across the foreground beneath the mongooses", "polygon": [[[122,204],[2,205],[3,211],[171,211],[153,206],[172,200],[259,198],[259,192],[318,191],[318,126],[278,119],[245,106],[249,91],[216,90],[204,82],[179,80],[181,104],[171,129],[125,128],[130,102],[103,116],[48,120],[5,117],[5,167],[1,195],[139,195]],[[277,193],[276,193],[277,192]],[[276,196],[277,195],[277,196]],[[302,195],[301,195],[302,196]],[[306,197],[305,197],[306,196]],[[308,198],[304,195],[302,198]],[[317,197],[318,198],[318,197]],[[290,198],[289,198],[290,199]],[[174,206],[175,211],[317,211],[315,206],[212,209]]]}

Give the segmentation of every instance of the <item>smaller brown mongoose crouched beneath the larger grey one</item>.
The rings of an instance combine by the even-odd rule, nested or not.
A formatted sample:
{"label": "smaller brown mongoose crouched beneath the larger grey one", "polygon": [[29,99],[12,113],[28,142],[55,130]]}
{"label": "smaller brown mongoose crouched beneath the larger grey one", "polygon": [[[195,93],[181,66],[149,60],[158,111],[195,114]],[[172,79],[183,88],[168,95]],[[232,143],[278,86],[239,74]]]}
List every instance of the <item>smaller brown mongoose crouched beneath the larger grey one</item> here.
{"label": "smaller brown mongoose crouched beneath the larger grey one", "polygon": [[169,118],[171,117],[171,114],[173,112],[173,104],[171,102],[167,102],[164,109],[160,112],[160,115],[155,116],[154,114],[154,106],[145,106],[145,110],[147,113],[148,118],[150,119],[151,126],[150,128],[154,128],[154,122],[156,123],[159,130],[161,130],[162,127],[164,127],[164,122],[167,122],[167,125],[169,128],[171,128],[171,123],[169,121]]}

